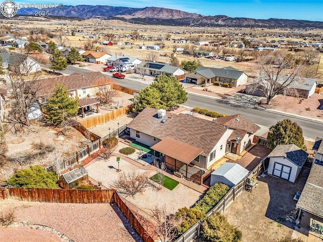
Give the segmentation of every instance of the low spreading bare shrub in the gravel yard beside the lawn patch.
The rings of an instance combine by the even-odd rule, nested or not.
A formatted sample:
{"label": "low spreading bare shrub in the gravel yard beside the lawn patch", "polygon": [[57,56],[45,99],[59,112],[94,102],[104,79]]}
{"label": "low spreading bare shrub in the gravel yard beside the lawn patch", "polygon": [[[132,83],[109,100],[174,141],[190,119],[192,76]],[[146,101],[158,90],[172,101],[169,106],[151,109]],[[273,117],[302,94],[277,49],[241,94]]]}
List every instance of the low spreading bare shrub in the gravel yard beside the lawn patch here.
{"label": "low spreading bare shrub in the gravel yard beside the lawn patch", "polygon": [[112,187],[125,197],[134,197],[137,193],[142,193],[151,186],[148,175],[135,170],[122,172],[112,182]]}

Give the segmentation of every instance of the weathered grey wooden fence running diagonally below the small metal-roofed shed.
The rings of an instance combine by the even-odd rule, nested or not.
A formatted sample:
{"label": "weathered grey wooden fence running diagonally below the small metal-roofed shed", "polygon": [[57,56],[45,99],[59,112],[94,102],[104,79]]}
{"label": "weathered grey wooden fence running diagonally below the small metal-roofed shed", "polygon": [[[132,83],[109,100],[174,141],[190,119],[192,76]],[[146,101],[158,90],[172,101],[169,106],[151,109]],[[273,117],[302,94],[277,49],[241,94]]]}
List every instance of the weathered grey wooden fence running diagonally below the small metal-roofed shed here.
{"label": "weathered grey wooden fence running diagonally below the small metal-roofed shed", "polygon": [[[259,175],[261,171],[263,171],[263,162],[266,160],[267,157],[265,157],[249,174],[253,173],[254,175]],[[241,195],[241,193],[245,190],[245,184],[246,179],[243,179],[240,183],[237,185],[231,187],[231,189],[228,191],[226,196],[224,196],[219,203],[207,213],[207,217],[211,216],[214,213],[217,212],[224,212],[226,208],[229,207],[229,205],[236,200],[236,198]],[[181,237],[179,237],[176,242],[190,242],[193,240],[193,238],[197,237],[200,233],[200,228],[203,220],[198,221],[196,224],[194,224],[189,230],[187,230]]]}

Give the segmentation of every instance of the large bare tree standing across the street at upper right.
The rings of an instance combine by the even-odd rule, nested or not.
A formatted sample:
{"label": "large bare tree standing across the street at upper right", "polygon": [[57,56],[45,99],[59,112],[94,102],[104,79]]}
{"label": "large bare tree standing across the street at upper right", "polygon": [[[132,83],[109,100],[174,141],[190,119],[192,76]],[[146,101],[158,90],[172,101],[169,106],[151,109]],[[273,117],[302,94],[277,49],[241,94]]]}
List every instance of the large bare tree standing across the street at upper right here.
{"label": "large bare tree standing across the street at upper right", "polygon": [[248,92],[262,92],[270,105],[277,94],[297,93],[293,83],[300,80],[300,70],[301,66],[296,65],[293,57],[286,52],[263,55],[259,57],[257,78],[246,89]]}

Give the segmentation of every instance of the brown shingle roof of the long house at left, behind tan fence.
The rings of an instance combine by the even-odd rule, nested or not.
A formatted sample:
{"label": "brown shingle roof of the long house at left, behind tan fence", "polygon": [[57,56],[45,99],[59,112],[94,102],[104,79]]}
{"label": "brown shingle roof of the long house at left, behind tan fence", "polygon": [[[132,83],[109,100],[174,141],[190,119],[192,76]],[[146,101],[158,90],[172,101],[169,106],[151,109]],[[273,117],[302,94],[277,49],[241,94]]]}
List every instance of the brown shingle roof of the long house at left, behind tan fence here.
{"label": "brown shingle roof of the long house at left, behind tan fence", "polygon": [[88,88],[98,86],[106,83],[111,83],[111,80],[106,78],[102,73],[90,72],[90,73],[73,73],[69,76],[59,76],[54,78],[40,79],[41,88],[38,91],[38,95],[48,95],[52,93],[56,82],[64,86],[68,90],[75,90],[81,88]]}

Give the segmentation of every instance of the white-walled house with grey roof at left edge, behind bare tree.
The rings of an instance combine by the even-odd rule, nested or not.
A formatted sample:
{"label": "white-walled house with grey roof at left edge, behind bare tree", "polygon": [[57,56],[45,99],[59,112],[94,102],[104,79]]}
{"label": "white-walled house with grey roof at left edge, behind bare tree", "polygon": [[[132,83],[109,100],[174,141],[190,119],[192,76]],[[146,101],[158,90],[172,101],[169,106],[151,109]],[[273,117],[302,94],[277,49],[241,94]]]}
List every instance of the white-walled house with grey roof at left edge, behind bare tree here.
{"label": "white-walled house with grey roof at left edge, behind bare tree", "polygon": [[22,55],[19,53],[0,53],[2,57],[3,68],[8,68],[8,70],[14,73],[35,73],[41,70],[41,65],[31,57],[27,55]]}

